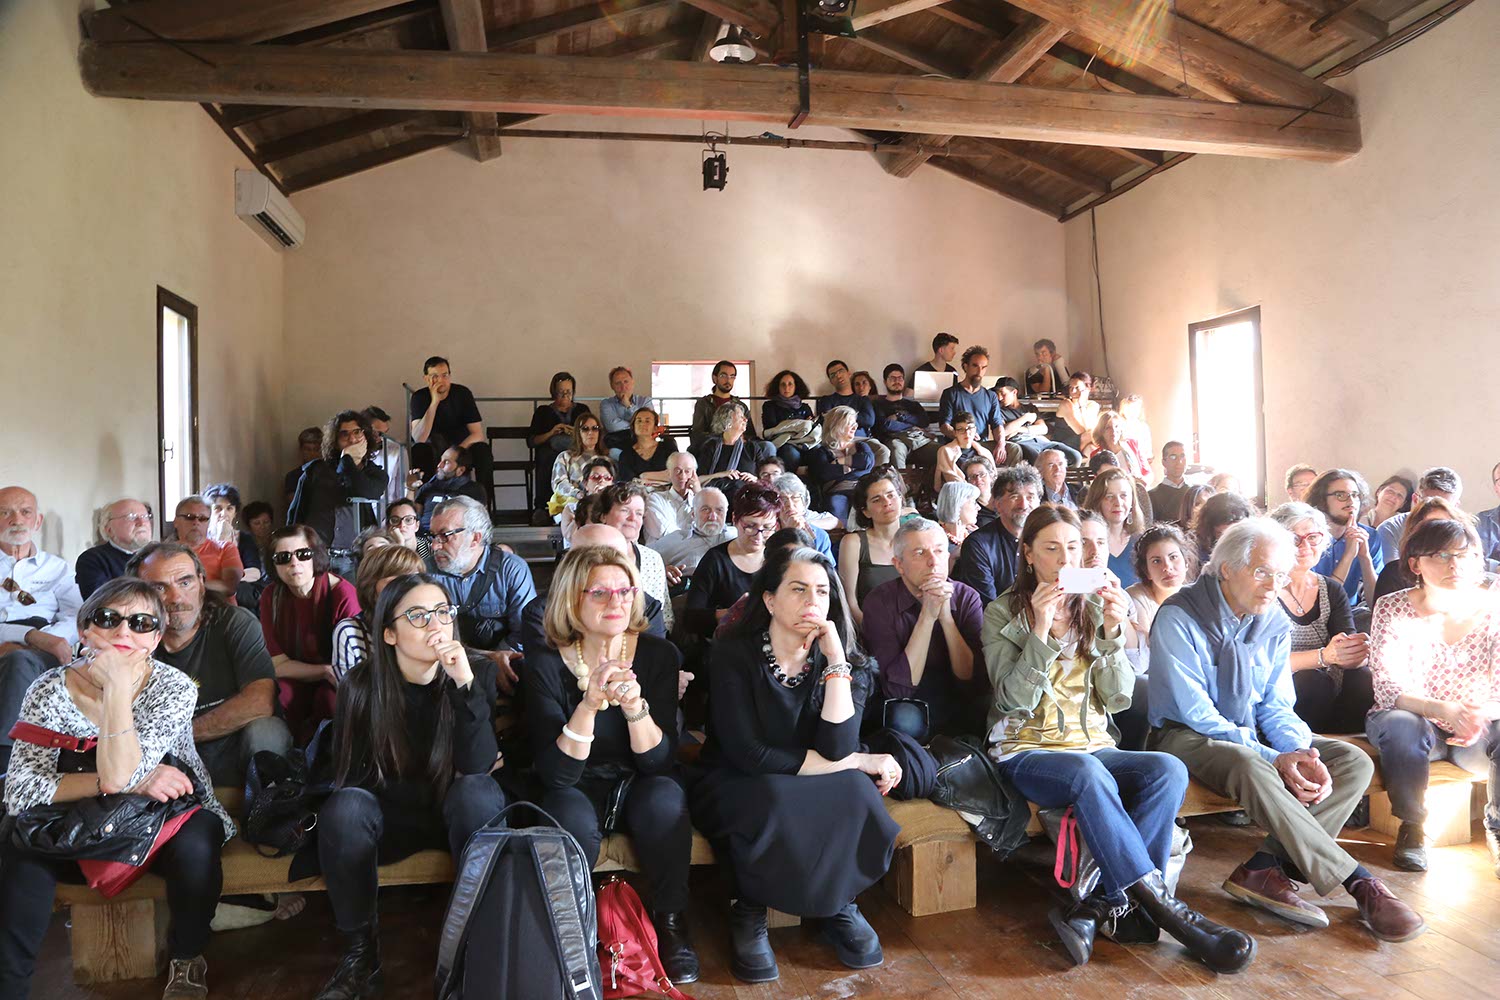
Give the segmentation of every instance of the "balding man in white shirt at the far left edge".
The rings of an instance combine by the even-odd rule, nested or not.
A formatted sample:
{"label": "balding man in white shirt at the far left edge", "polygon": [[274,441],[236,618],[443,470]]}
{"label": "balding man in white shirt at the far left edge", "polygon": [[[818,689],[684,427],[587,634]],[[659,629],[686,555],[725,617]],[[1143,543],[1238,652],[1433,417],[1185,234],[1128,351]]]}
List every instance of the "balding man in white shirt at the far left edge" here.
{"label": "balding man in white shirt at the far left edge", "polygon": [[42,552],[42,511],[22,486],[0,489],[0,771],[32,681],[74,658],[82,598],[64,559]]}

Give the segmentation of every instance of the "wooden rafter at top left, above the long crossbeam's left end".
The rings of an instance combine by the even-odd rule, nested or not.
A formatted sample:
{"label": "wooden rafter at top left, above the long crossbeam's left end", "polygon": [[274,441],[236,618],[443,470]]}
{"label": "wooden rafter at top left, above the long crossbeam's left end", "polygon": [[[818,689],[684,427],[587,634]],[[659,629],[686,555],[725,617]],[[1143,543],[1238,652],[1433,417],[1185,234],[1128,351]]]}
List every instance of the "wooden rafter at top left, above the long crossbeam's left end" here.
{"label": "wooden rafter at top left, above the long crossbeam's left end", "polygon": [[138,0],[86,10],[84,34],[98,42],[266,42],[398,6],[398,0]]}

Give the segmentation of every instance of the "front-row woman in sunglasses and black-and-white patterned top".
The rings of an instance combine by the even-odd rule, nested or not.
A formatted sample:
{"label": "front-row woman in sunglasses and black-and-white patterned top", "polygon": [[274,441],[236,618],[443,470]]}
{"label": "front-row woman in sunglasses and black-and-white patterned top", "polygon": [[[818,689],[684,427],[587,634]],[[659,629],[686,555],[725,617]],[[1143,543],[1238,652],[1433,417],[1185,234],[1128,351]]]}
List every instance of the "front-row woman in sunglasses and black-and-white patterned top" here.
{"label": "front-row woman in sunglasses and black-and-white patterned top", "polygon": [[[120,792],[158,802],[196,792],[202,808],[150,861],[150,870],[166,880],[171,972],[162,996],[171,1000],[206,996],[202,951],[224,885],[219,850],[234,835],[234,823],[213,798],[194,747],[196,690],[186,675],[152,658],[164,618],[162,598],[141,580],[116,579],[93,592],[78,612],[87,655],[38,678],[18,721],[34,727],[40,739],[46,739],[40,730],[48,730],[96,745],[64,750],[20,736],[4,808],[20,816]],[[10,841],[0,847],[0,997],[27,996],[60,879],[81,882],[76,862],[40,858]]]}

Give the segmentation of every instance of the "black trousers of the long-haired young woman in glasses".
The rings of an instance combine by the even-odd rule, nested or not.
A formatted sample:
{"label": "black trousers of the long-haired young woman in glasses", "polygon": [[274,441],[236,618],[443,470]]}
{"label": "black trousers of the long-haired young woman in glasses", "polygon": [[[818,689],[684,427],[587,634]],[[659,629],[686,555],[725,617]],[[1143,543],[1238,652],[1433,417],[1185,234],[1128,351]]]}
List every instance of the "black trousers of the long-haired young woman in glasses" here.
{"label": "black trousers of the long-haired young woman in glasses", "polygon": [[[495,819],[506,808],[506,793],[488,774],[466,774],[453,780],[442,799],[441,823],[432,820],[432,831],[446,831],[448,850],[456,862],[464,846],[478,828]],[[375,904],[380,894],[381,847],[392,852],[392,840],[410,834],[414,817],[393,817],[392,826],[404,829],[387,832],[386,811],[374,792],[366,789],[339,789],[318,810],[318,864],[328,885],[328,904],[333,907],[333,922],[340,931],[357,931],[375,919]],[[422,826],[418,819],[418,829]],[[402,838],[405,840],[405,838]],[[404,844],[420,850],[428,844]],[[399,856],[414,850],[398,850]],[[396,861],[396,858],[392,858]]]}

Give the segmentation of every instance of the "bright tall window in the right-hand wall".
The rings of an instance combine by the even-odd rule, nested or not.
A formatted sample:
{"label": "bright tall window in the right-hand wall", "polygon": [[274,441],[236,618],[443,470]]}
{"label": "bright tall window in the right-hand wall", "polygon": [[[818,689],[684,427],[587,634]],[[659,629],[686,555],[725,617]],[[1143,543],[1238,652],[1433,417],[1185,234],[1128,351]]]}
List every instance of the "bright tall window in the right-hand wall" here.
{"label": "bright tall window in the right-hand wall", "polygon": [[1188,327],[1194,457],[1264,498],[1266,421],[1260,379],[1260,307]]}

